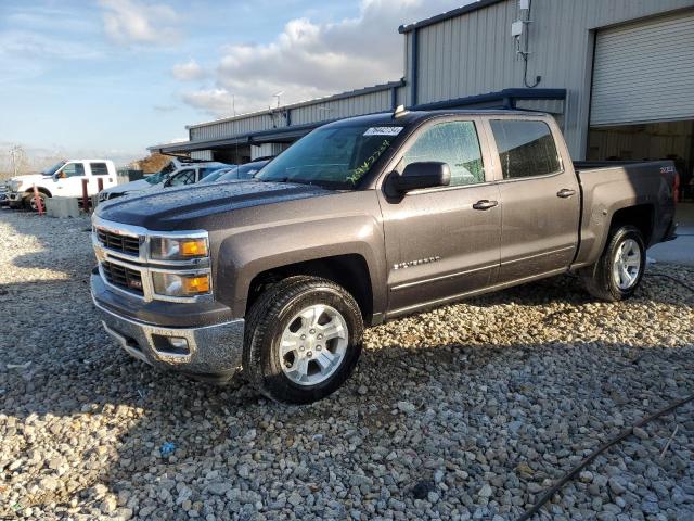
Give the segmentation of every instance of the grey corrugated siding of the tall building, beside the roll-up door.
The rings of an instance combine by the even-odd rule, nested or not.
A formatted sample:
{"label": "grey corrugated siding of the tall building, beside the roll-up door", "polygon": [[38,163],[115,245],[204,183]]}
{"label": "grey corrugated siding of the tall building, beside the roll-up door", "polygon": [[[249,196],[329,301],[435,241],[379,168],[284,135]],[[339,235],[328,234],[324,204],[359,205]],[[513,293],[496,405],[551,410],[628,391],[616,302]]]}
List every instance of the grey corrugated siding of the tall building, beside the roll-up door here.
{"label": "grey corrugated siding of the tall building, beside the roll-up door", "polygon": [[[528,79],[566,88],[565,137],[575,157],[586,149],[593,51],[592,29],[694,8],[694,0],[534,0],[529,24]],[[420,103],[524,87],[511,23],[517,1],[507,0],[419,31]],[[411,37],[407,39],[410,45]],[[411,60],[406,61],[409,81]]]}

